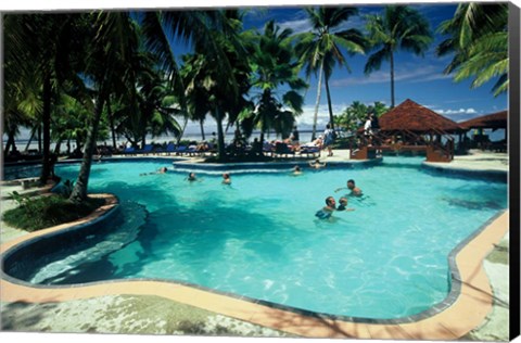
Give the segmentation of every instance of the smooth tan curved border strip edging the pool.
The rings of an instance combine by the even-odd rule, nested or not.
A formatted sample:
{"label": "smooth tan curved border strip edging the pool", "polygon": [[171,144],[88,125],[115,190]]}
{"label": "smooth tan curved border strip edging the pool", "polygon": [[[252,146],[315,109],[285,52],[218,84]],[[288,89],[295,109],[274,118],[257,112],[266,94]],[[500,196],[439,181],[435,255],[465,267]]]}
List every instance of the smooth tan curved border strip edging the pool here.
{"label": "smooth tan curved border strip edging the pool", "polygon": [[[104,194],[103,196],[107,195]],[[112,196],[112,204],[105,205],[91,216],[5,242],[1,244],[0,252],[3,255],[15,245],[23,244],[39,236],[99,219],[117,205],[117,199],[113,195],[109,196]],[[305,315],[306,312],[287,310],[283,308],[284,306],[277,308],[269,306],[269,303],[252,302],[245,297],[229,296],[202,288],[168,281],[112,280],[67,287],[35,287],[17,282],[17,280],[7,277],[3,271],[0,280],[0,300],[2,302],[41,303],[118,294],[158,295],[302,336],[454,340],[481,325],[492,309],[492,288],[483,269],[483,259],[494,249],[494,244],[508,231],[508,209],[497,214],[453,250],[448,258],[453,284],[456,281],[459,285],[457,294],[453,294],[452,290],[447,296],[448,301],[446,298],[440,303],[441,308],[435,309],[436,313],[432,314],[431,308],[431,310],[419,316],[420,319],[412,322],[391,323],[392,320],[360,322],[343,320],[339,316],[320,316],[320,314],[310,316]],[[458,282],[458,279],[461,282]],[[412,317],[415,316],[410,318]]]}

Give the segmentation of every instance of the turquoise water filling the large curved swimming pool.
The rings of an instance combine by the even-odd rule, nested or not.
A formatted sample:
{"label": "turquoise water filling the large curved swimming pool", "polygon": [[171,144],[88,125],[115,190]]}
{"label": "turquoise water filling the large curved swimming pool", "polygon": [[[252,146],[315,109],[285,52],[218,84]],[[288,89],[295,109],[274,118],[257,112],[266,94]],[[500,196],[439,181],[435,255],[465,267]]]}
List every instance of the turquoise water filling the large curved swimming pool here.
{"label": "turquoise water filling the large curved swimming pool", "polygon": [[[449,252],[507,207],[506,183],[428,173],[422,160],[304,168],[297,177],[289,169],[232,172],[231,187],[220,183],[221,172],[196,172],[200,181],[189,182],[188,169],[171,165],[167,174],[140,176],[164,162],[94,164],[91,192],[116,194],[124,209],[139,203],[148,216],[136,240],[75,265],[74,282],[158,278],[332,315],[418,314],[446,297]],[[78,169],[56,173],[73,179]],[[317,219],[328,195],[346,194],[334,190],[350,178],[366,194],[350,199],[355,211]],[[33,281],[69,283],[55,271],[69,261],[55,257],[50,263],[61,268],[35,270]]]}

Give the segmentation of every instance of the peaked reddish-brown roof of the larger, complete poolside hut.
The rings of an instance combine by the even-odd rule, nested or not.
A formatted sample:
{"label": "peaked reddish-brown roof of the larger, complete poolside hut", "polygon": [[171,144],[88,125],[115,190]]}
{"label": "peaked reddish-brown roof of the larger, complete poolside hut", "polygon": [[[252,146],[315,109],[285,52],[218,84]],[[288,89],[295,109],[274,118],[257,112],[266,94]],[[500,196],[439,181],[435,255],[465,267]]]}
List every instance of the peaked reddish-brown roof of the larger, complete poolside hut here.
{"label": "peaked reddish-brown roof of the larger, complete poolside hut", "polygon": [[454,120],[444,117],[407,99],[396,107],[390,110],[379,118],[382,131],[412,131],[428,134],[443,131],[448,134],[459,132],[463,129]]}

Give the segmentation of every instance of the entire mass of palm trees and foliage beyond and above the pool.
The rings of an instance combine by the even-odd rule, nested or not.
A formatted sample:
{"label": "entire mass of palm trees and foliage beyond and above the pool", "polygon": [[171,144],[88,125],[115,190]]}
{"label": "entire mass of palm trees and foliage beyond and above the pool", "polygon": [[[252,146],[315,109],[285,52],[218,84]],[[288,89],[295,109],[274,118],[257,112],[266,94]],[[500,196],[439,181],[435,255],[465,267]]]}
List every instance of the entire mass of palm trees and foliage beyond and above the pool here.
{"label": "entire mass of palm trees and foliage beyond and above the pool", "polygon": [[[445,73],[455,80],[473,78],[472,87],[494,79],[496,96],[508,89],[507,10],[501,3],[457,8],[439,29],[446,38],[439,55],[453,55]],[[245,138],[255,129],[260,140],[270,131],[288,137],[303,112],[312,75],[318,81],[313,136],[322,81],[330,124],[353,130],[367,104],[353,102],[335,115],[333,71],[350,72],[347,56],[354,54],[370,52],[368,74],[389,62],[392,107],[395,53],[422,55],[432,42],[427,20],[407,5],[365,17],[365,33],[347,28],[358,15],[352,7],[315,7],[305,13],[310,29],[302,34],[272,21],[245,30],[240,10],[7,14],[4,156],[17,152],[16,135],[28,128],[30,140],[37,137],[41,145],[43,183],[53,155],[75,150],[82,160],[69,201],[81,203],[88,200],[100,140],[112,140],[113,149],[122,138],[135,147],[164,135],[179,141],[188,120],[200,123],[204,137],[203,124],[212,117],[217,158],[226,161],[230,128]],[[382,102],[372,106],[378,114],[386,111]]]}

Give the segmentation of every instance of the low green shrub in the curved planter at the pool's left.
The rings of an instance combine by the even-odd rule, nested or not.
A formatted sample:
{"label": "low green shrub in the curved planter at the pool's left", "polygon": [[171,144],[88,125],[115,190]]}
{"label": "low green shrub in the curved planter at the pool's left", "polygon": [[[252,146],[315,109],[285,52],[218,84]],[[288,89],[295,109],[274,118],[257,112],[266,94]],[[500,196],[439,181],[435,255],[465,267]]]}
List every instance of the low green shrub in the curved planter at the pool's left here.
{"label": "low green shrub in the curved planter at the pool's left", "polygon": [[12,198],[18,206],[7,211],[2,219],[12,227],[29,232],[79,219],[105,203],[103,199],[89,198],[81,204],[75,204],[55,194],[27,198],[13,192]]}

